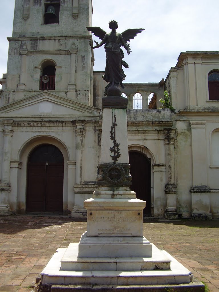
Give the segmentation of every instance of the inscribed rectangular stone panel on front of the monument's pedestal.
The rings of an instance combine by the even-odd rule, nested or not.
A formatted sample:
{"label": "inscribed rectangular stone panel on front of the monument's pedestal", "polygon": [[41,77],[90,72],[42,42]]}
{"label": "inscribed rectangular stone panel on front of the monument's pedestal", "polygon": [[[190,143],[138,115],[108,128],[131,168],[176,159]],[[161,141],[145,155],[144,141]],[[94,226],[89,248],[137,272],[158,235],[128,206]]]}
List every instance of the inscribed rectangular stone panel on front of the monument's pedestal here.
{"label": "inscribed rectangular stone panel on front of the monument's pedestal", "polygon": [[87,210],[87,214],[87,236],[142,236],[142,210]]}

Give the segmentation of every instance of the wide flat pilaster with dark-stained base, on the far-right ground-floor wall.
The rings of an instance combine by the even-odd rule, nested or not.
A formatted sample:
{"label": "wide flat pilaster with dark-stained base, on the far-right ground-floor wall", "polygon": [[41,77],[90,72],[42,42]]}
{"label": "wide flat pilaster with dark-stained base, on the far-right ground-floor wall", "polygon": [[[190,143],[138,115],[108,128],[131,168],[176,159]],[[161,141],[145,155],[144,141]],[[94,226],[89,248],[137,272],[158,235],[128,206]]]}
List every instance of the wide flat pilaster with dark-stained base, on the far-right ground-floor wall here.
{"label": "wide flat pilaster with dark-stained base, on the far-right ground-floor wall", "polygon": [[211,219],[210,188],[207,181],[207,146],[205,122],[190,122],[192,132],[192,217]]}

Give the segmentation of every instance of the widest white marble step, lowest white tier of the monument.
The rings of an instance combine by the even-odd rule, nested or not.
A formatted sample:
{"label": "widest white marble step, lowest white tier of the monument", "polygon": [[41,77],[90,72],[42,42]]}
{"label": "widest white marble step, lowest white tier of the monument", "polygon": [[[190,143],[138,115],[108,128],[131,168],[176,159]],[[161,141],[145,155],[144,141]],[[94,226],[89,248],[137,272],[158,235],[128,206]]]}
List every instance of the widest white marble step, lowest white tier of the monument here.
{"label": "widest white marble step, lowest white tier of the monument", "polygon": [[60,269],[65,248],[59,248],[42,271],[43,285],[169,285],[192,282],[192,273],[162,251],[171,260],[170,270],[81,270],[64,271]]}

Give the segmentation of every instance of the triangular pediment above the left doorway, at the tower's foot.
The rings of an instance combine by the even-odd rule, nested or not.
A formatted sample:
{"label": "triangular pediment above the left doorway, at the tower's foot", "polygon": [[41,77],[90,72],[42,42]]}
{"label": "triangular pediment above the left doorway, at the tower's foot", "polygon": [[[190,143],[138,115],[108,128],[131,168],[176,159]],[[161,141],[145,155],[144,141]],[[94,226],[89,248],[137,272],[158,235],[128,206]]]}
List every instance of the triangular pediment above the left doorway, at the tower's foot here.
{"label": "triangular pediment above the left doorway, at the tower's foot", "polygon": [[48,91],[11,102],[0,107],[0,114],[13,117],[30,116],[98,116],[100,110]]}

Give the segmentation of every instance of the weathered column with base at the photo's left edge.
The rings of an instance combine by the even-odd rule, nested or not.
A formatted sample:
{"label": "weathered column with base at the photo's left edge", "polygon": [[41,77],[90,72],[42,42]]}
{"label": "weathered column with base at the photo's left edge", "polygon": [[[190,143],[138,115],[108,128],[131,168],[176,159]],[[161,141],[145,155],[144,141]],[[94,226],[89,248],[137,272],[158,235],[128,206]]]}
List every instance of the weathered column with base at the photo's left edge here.
{"label": "weathered column with base at the photo's left edge", "polygon": [[0,183],[0,214],[10,213],[8,205],[8,193],[11,192],[10,184],[10,160],[11,140],[13,136],[13,120],[3,120],[3,153],[1,162],[1,183]]}

